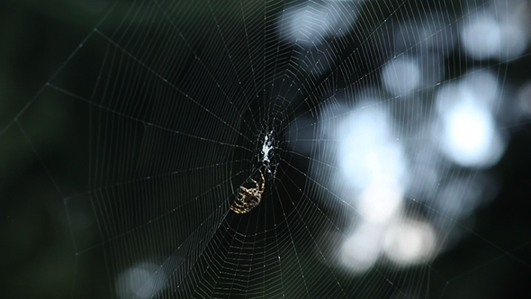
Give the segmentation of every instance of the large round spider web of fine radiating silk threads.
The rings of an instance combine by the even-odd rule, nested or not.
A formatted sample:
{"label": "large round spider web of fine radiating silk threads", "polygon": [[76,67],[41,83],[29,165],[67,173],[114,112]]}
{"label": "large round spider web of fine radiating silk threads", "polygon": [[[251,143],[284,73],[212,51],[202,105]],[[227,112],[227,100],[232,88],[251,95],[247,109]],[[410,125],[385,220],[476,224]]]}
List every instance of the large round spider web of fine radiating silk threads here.
{"label": "large round spider web of fine radiating silk threads", "polygon": [[[528,37],[467,41],[485,23],[502,40],[523,4],[116,2],[0,136],[40,159],[35,115],[74,111],[75,158],[40,159],[67,213],[73,297],[458,297],[500,258],[529,270],[514,254],[528,235],[509,246],[469,222],[500,189],[487,169],[507,128],[526,123],[506,98]],[[473,95],[489,150],[455,153],[448,131],[468,127],[452,109]],[[483,120],[471,101],[465,119]],[[231,212],[260,170],[260,204]],[[490,256],[437,264],[464,237]]]}

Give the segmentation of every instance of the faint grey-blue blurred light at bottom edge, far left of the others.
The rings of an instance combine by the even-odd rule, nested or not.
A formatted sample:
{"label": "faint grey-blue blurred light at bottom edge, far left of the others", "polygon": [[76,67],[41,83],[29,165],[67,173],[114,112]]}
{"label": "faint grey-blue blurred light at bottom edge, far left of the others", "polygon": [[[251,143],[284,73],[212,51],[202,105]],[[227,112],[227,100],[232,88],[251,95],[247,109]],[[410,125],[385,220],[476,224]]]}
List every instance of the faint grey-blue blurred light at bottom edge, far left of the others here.
{"label": "faint grey-blue blurred light at bottom edge, far left of the others", "polygon": [[156,264],[139,263],[121,273],[116,281],[116,293],[120,298],[151,298],[165,281],[166,274]]}

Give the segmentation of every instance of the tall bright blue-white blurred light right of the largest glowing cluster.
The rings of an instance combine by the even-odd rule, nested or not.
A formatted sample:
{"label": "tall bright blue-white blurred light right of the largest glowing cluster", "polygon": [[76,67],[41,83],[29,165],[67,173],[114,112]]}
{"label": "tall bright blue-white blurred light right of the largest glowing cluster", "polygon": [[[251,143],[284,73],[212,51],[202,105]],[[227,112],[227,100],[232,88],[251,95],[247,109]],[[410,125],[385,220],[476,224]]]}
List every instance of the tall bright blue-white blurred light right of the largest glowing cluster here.
{"label": "tall bright blue-white blurred light right of the largest glowing cluster", "polygon": [[498,162],[506,140],[491,113],[497,98],[497,81],[487,72],[466,74],[459,84],[439,90],[439,141],[446,157],[464,167],[486,168]]}

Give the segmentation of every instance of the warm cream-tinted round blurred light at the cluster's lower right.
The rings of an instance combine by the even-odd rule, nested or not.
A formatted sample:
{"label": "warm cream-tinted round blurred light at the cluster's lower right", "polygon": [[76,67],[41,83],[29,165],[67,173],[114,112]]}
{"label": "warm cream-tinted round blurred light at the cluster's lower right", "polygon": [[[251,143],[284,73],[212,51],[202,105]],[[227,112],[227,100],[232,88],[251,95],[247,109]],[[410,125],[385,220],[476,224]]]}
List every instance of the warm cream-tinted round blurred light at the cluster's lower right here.
{"label": "warm cream-tinted round blurred light at the cluster's lower right", "polygon": [[383,252],[398,265],[426,262],[435,252],[437,236],[428,222],[400,219],[383,234]]}

